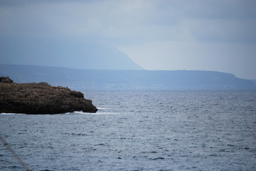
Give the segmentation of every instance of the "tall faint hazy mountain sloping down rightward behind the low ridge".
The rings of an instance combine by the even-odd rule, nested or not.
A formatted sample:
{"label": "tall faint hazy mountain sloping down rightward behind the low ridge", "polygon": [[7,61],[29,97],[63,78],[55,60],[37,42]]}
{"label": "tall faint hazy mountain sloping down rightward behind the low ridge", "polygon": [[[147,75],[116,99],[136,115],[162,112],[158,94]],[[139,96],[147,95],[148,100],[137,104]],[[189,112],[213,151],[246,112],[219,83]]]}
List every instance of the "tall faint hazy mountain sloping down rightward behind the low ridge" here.
{"label": "tall faint hazy mountain sloping down rightward behind the low ridge", "polygon": [[81,38],[1,36],[0,58],[1,64],[143,70],[117,48]]}

